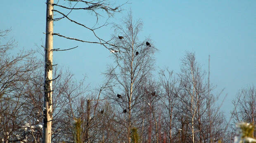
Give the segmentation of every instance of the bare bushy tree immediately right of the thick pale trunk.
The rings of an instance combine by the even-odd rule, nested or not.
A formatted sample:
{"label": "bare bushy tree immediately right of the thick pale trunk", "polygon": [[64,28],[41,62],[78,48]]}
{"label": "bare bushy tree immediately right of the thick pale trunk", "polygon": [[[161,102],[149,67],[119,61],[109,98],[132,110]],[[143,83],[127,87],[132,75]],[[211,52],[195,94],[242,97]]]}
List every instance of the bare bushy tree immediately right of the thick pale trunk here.
{"label": "bare bushy tree immediately right of the thick pale trunk", "polygon": [[70,71],[62,72],[57,72],[60,76],[54,82],[52,141],[72,142],[73,121],[79,118],[76,103],[88,89],[84,79],[76,81]]}

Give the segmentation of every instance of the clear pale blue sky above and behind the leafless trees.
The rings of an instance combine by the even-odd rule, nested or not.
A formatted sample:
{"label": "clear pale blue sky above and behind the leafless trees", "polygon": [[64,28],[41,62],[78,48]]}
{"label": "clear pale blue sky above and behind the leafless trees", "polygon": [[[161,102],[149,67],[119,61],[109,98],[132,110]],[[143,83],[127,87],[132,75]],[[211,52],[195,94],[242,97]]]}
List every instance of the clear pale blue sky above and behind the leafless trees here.
{"label": "clear pale blue sky above and behind the leafless trees", "polygon": [[[62,0],[61,0],[62,1]],[[113,1],[112,1],[113,2]],[[125,1],[116,0],[116,4]],[[255,0],[130,0],[124,11],[115,14],[109,22],[120,23],[131,9],[133,18],[141,18],[144,25],[141,40],[150,37],[156,53],[156,71],[161,68],[178,73],[180,59],[185,51],[194,51],[203,69],[208,69],[211,55],[211,83],[217,85],[215,93],[225,88],[220,100],[227,94],[222,106],[228,113],[231,101],[238,90],[256,81],[256,1]],[[0,29],[12,28],[10,37],[17,40],[19,48],[36,49],[45,41],[45,0],[4,0],[0,5]],[[71,14],[78,21],[92,25],[95,18],[90,12]],[[104,18],[101,18],[104,20]],[[84,40],[95,40],[90,31],[66,20],[55,23],[54,32]],[[109,38],[111,26],[96,31]],[[55,48],[72,51],[55,52],[54,63],[71,69],[76,79],[87,76],[91,88],[104,80],[101,74],[111,64],[110,53],[100,45],[74,42],[54,37]],[[38,58],[42,58],[38,55]]]}

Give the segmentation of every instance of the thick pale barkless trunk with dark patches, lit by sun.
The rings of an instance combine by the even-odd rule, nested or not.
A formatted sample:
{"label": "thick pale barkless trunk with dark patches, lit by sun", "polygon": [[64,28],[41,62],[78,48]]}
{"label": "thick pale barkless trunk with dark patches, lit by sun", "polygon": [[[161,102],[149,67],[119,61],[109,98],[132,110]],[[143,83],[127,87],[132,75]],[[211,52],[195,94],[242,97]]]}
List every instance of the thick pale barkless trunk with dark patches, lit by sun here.
{"label": "thick pale barkless trunk with dark patches, lit by sun", "polygon": [[52,47],[53,47],[53,0],[47,0],[45,37],[45,84],[43,143],[51,143],[52,130]]}

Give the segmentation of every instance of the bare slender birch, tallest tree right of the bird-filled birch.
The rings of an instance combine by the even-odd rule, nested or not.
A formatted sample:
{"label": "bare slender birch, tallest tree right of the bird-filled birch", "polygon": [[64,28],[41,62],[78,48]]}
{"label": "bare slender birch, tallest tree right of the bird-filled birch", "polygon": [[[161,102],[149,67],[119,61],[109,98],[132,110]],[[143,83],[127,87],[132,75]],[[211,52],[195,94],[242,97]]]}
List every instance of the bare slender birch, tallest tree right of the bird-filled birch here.
{"label": "bare slender birch, tallest tree right of the bird-filled birch", "polygon": [[[224,117],[220,107],[215,105],[218,96],[213,96],[212,85],[206,82],[206,72],[201,70],[195,60],[194,53],[186,53],[182,59],[180,109],[185,115],[191,142],[211,142],[211,138],[218,140],[223,133]],[[209,106],[209,104],[211,106]],[[211,116],[209,116],[211,112]],[[190,113],[190,114],[186,114]],[[214,128],[212,128],[214,126]],[[217,128],[219,127],[219,128]],[[210,129],[210,130],[209,130]]]}

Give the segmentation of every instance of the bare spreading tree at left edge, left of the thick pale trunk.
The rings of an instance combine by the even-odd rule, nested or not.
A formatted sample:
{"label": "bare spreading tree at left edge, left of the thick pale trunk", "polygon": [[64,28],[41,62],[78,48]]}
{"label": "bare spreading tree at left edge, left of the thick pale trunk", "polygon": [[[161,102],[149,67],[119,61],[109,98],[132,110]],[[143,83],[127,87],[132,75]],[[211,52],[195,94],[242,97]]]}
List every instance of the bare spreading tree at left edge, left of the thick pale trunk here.
{"label": "bare spreading tree at left edge, left of the thick pale trunk", "polygon": [[0,31],[0,138],[5,143],[10,141],[26,142],[28,129],[24,127],[28,112],[26,87],[33,79],[33,72],[38,69],[38,62],[33,51],[20,51],[17,55],[9,55],[9,51],[17,46],[14,40],[2,44],[2,39],[10,30]]}

